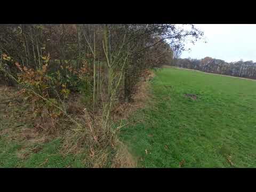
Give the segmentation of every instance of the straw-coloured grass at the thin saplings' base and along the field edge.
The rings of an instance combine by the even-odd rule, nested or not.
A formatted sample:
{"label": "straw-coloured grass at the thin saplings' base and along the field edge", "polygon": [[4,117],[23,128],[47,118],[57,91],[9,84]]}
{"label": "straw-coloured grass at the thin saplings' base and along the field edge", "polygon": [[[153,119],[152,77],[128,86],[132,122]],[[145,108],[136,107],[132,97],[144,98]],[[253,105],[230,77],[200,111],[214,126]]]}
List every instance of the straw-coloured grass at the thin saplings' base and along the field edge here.
{"label": "straw-coloured grass at the thin saplings' base and along the field edge", "polygon": [[[142,77],[145,81],[137,84],[136,92],[132,95],[133,102],[118,103],[112,111],[114,123],[122,122],[123,119],[129,118],[134,111],[145,107],[147,100],[150,98],[149,80],[154,77],[154,73],[145,70]],[[78,101],[75,101],[68,111],[76,111],[76,120],[84,128],[76,133],[70,131],[66,133],[63,153],[76,155],[87,153],[90,158],[87,158],[86,161],[89,162],[91,167],[105,167],[108,161],[111,161],[111,167],[136,167],[136,159],[131,155],[127,146],[118,140],[118,133],[106,137],[106,133],[102,129],[101,116],[90,114],[89,111],[83,110],[82,103],[78,106],[77,103]],[[81,111],[83,111],[82,114]],[[83,143],[86,143],[86,148]],[[112,148],[110,150],[115,151],[113,157],[109,157],[110,151],[106,148],[106,145]]]}

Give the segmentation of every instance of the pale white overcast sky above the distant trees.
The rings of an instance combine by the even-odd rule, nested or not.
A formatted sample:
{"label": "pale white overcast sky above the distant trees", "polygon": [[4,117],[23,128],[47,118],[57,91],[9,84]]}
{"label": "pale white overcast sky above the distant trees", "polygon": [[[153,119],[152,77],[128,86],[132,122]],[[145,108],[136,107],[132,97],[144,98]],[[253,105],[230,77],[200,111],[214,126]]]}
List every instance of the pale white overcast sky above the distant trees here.
{"label": "pale white overcast sky above the distant trees", "polygon": [[[256,25],[254,24],[196,24],[204,31],[205,39],[195,45],[188,43],[191,51],[181,58],[202,59],[212,57],[227,62],[252,60],[256,62]],[[207,43],[204,43],[206,40]]]}

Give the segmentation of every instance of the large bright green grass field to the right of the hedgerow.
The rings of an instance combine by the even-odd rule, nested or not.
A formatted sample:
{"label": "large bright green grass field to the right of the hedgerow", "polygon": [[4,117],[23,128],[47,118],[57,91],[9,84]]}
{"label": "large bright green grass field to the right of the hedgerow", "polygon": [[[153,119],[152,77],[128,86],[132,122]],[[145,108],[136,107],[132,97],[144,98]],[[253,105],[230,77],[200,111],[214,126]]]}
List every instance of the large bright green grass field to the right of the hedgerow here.
{"label": "large bright green grass field to the right of the hedgerow", "polygon": [[139,166],[256,167],[256,81],[165,68],[151,92],[122,131]]}

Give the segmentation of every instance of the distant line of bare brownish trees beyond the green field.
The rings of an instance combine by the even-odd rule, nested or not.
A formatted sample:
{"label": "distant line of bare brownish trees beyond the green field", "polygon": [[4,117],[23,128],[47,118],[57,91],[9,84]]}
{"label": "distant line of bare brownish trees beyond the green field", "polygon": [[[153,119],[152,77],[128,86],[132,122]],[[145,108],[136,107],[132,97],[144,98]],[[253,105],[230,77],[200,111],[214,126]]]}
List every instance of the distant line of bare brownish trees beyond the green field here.
{"label": "distant line of bare brownish trees beyond the green field", "polygon": [[206,57],[204,59],[175,59],[173,66],[196,69],[208,73],[256,79],[256,63],[253,61],[225,62]]}

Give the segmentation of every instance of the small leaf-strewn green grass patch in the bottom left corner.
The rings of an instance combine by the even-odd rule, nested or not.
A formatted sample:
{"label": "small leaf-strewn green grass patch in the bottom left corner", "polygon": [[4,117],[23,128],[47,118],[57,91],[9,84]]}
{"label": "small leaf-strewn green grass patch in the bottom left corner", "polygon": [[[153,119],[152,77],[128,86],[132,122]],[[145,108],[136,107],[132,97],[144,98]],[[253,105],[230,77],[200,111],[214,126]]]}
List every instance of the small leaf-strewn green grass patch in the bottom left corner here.
{"label": "small leaf-strewn green grass patch in the bottom left corner", "polygon": [[[84,167],[82,158],[61,155],[60,145],[60,139],[29,147],[22,142],[1,139],[0,167]],[[33,149],[39,151],[33,152]]]}

